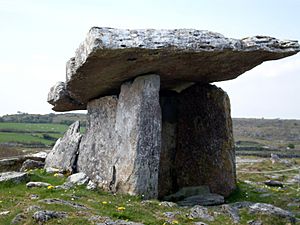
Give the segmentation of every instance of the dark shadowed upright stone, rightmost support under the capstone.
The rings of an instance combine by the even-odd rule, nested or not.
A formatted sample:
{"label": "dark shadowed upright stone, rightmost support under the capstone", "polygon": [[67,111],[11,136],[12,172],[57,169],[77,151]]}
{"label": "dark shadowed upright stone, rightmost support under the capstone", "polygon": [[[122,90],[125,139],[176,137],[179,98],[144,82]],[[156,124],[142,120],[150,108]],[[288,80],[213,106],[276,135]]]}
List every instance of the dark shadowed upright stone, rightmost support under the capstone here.
{"label": "dark shadowed upright stone, rightmost support under the capstone", "polygon": [[177,185],[208,185],[228,196],[236,186],[235,152],[229,98],[222,89],[196,84],[178,106]]}

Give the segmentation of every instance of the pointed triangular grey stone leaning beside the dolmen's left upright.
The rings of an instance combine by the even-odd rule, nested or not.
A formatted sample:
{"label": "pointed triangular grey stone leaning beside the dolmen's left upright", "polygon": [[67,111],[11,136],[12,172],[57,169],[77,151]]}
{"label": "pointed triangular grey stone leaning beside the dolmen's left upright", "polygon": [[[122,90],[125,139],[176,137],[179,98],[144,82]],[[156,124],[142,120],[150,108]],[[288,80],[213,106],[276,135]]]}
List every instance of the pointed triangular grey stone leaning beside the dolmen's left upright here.
{"label": "pointed triangular grey stone leaning beside the dolmen's left upright", "polygon": [[79,121],[73,123],[62,138],[59,138],[45,160],[45,169],[75,172],[78,148],[81,140]]}

